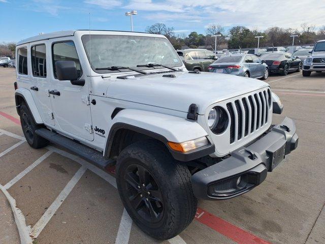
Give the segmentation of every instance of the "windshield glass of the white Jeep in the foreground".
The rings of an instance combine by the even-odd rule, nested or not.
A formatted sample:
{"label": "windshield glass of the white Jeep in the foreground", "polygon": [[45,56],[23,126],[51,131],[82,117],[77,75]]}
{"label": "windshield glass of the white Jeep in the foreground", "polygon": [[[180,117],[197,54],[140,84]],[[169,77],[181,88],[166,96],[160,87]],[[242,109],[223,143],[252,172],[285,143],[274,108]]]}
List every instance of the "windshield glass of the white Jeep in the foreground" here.
{"label": "windshield glass of the white Jeep in the foreground", "polygon": [[117,72],[116,70],[95,70],[96,68],[111,66],[134,68],[137,65],[147,64],[160,64],[169,67],[182,66],[182,61],[175,49],[165,38],[84,35],[81,39],[91,68],[97,73]]}

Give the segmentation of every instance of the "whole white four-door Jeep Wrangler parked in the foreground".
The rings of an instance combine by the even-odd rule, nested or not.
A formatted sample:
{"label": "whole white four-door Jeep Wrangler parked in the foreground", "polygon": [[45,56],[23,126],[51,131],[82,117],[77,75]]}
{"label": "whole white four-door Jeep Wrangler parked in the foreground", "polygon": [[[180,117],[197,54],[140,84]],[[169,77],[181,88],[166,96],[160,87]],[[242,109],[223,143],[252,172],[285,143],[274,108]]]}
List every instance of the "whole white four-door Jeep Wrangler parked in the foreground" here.
{"label": "whole white four-door Jeep Wrangler parked in the foreground", "polygon": [[197,199],[261,184],[296,149],[290,118],[263,81],[189,72],[166,37],[66,31],[17,44],[16,105],[34,148],[49,142],[106,169],[122,202],[157,239],[184,230]]}

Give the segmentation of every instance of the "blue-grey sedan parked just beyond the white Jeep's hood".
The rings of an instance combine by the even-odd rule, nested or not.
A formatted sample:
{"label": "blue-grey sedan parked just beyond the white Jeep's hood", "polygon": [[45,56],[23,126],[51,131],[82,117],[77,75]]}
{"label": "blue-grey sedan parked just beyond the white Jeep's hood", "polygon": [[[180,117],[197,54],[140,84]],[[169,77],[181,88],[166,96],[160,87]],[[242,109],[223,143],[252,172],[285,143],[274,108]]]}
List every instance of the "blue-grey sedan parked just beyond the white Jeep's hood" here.
{"label": "blue-grey sedan parked just beyond the white Jeep's hood", "polygon": [[251,78],[262,78],[262,80],[267,79],[269,76],[268,66],[252,54],[232,54],[220,57],[209,66],[209,71]]}

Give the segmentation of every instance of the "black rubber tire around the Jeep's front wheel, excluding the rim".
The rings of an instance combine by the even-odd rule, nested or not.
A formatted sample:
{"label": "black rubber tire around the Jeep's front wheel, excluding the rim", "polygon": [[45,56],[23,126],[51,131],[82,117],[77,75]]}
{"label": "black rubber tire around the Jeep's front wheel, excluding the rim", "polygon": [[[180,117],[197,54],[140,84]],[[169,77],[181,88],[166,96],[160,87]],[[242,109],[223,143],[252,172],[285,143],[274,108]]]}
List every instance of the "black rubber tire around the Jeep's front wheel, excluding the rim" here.
{"label": "black rubber tire around the Jeep's front wheel, excluding the rim", "polygon": [[[164,214],[158,223],[152,224],[142,218],[129,200],[128,192],[132,187],[126,187],[124,177],[127,168],[135,163],[146,168],[163,196]],[[193,220],[197,199],[193,195],[190,179],[188,168],[176,161],[159,141],[145,140],[131,144],[122,150],[117,159],[117,189],[124,207],[139,228],[156,239],[166,240],[178,235]]]}

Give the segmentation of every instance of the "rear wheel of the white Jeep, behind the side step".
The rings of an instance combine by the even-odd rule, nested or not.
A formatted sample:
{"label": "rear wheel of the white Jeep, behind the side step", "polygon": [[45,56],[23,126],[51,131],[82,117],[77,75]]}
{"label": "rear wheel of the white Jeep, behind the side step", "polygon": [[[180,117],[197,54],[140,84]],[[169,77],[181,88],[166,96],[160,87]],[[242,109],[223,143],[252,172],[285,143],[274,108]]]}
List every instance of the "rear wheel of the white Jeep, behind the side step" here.
{"label": "rear wheel of the white Jeep, behind the side step", "polygon": [[[35,131],[41,126],[36,125],[27,105],[22,103],[19,107],[21,128],[27,143],[33,148],[41,148],[47,146],[49,141],[37,135]],[[27,128],[28,127],[28,128]]]}

